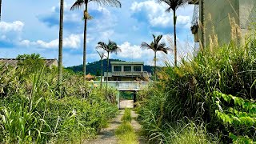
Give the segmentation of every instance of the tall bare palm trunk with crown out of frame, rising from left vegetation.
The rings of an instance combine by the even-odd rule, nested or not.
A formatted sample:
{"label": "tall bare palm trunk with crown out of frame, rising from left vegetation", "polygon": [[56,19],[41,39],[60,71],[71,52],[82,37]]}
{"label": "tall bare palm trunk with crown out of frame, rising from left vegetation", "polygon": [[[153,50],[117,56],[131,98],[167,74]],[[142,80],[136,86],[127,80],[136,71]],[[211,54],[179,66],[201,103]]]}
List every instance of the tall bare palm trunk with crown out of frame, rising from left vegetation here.
{"label": "tall bare palm trunk with crown out of frame, rising from left vegetation", "polygon": [[[0,0],[2,1],[2,0]],[[63,40],[63,6],[64,0],[60,3],[59,13],[59,35],[58,35],[58,90],[62,92],[62,40]]]}

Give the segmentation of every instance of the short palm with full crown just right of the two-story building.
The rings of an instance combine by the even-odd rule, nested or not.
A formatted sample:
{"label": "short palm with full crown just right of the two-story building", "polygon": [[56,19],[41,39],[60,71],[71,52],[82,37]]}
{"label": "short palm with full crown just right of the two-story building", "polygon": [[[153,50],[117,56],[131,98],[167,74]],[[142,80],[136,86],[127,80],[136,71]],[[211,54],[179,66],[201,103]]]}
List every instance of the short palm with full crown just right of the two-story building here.
{"label": "short palm with full crown just right of the two-story building", "polygon": [[146,42],[142,42],[141,48],[154,50],[154,81],[156,82],[156,80],[157,80],[157,74],[156,74],[157,52],[162,51],[167,54],[167,51],[170,50],[170,48],[166,46],[165,42],[160,42],[162,39],[162,35],[158,35],[158,37],[156,37],[153,34],[153,38],[154,38],[154,41],[151,42],[150,44],[147,44]]}

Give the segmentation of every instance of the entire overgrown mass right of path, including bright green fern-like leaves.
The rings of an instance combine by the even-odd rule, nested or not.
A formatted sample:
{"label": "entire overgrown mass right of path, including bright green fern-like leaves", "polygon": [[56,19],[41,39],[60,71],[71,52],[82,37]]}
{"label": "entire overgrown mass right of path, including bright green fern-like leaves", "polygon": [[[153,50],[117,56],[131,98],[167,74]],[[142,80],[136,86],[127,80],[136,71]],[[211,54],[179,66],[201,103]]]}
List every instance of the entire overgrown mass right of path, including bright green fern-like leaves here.
{"label": "entire overgrown mass right of path, including bright green fern-like leaves", "polygon": [[180,123],[203,125],[202,133],[196,130],[197,137],[187,136],[202,143],[256,141],[255,34],[244,46],[237,43],[233,39],[225,46],[199,50],[177,67],[166,63],[159,73],[161,82],[138,93],[140,120],[151,142],[177,143],[170,139],[184,138],[190,131],[172,134]]}

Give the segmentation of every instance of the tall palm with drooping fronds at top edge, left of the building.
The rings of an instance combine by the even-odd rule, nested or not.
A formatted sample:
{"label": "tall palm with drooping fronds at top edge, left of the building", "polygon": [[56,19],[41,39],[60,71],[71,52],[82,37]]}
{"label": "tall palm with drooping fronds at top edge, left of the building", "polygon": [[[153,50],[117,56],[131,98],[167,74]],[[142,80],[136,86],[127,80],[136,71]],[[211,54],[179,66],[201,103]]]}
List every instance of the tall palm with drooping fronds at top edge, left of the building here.
{"label": "tall palm with drooping fronds at top edge, left of the building", "polygon": [[88,13],[88,4],[89,2],[95,2],[99,6],[116,6],[121,7],[121,2],[118,0],[76,0],[70,10],[80,9],[82,6],[85,6],[84,10],[84,38],[83,38],[83,84],[86,86],[86,32],[87,32],[87,20],[92,17]]}

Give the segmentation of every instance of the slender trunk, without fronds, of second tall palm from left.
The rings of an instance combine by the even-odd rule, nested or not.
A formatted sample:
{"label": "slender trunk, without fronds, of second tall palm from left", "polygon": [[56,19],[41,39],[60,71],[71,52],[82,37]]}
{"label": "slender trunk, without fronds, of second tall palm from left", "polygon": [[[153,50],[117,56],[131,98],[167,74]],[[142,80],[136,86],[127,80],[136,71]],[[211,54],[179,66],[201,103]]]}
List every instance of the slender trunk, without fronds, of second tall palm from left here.
{"label": "slender trunk, without fronds, of second tall palm from left", "polygon": [[[83,32],[83,86],[85,86],[86,90],[86,34],[87,34],[87,11],[88,10],[88,4],[86,3],[86,10],[84,11],[84,18],[85,18],[85,26],[84,26],[84,32]],[[84,92],[85,92],[84,90]]]}

